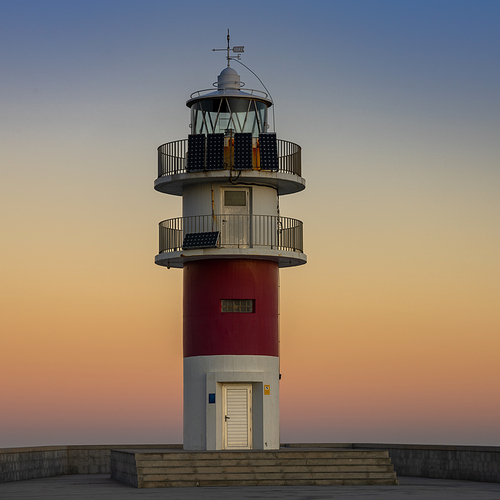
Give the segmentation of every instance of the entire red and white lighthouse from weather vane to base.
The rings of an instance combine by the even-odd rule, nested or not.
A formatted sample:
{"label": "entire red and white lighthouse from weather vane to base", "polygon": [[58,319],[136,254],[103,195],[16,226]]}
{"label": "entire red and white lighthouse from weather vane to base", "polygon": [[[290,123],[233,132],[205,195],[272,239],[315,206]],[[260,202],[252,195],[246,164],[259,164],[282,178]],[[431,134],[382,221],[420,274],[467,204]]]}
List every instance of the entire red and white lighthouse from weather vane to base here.
{"label": "entire red and white lighthouse from weather vane to base", "polygon": [[306,263],[301,150],[269,131],[270,96],[244,90],[228,48],[214,89],[191,94],[187,139],[158,148],[155,189],[182,196],[156,264],[183,271],[184,449],[279,448],[279,269]]}

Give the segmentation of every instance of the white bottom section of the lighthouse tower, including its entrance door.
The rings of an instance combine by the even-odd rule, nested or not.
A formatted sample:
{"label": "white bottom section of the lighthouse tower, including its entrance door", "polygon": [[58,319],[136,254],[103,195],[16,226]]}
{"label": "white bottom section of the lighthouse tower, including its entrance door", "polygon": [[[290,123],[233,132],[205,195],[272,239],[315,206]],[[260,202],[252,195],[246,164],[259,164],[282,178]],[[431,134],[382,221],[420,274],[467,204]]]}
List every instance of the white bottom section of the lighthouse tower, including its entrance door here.
{"label": "white bottom section of the lighthouse tower, including its entrance door", "polygon": [[279,449],[279,358],[184,358],[184,449]]}

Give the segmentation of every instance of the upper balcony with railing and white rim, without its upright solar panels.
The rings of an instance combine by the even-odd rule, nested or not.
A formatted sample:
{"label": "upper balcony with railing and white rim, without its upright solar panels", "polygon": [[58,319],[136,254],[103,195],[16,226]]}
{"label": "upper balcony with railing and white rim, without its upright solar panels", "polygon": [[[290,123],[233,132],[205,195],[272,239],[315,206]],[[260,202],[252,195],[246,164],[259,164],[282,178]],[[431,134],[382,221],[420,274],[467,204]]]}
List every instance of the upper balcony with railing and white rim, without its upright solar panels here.
{"label": "upper balcony with railing and white rim, without its upright solar panels", "polygon": [[161,193],[178,196],[182,195],[184,186],[205,180],[264,184],[274,187],[279,195],[297,193],[305,188],[298,144],[276,139],[278,166],[270,170],[261,167],[259,140],[254,137],[252,141],[251,166],[245,169],[235,169],[234,140],[229,137],[224,138],[223,161],[217,169],[211,169],[207,165],[209,160],[203,158],[199,168],[188,170],[188,139],[162,144],[158,148],[158,178],[154,187]]}

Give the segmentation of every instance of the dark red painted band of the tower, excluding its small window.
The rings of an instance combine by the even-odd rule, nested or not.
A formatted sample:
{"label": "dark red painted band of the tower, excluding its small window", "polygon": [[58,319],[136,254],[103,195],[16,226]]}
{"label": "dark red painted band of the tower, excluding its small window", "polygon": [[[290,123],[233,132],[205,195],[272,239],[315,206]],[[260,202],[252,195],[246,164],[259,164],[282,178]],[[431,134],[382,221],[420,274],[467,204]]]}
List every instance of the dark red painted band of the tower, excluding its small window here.
{"label": "dark red painted band of the tower, excluding its small window", "polygon": [[[184,263],[184,357],[279,356],[276,262],[218,259]],[[254,312],[222,312],[222,299],[254,301]]]}

